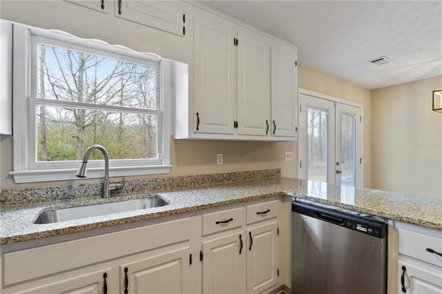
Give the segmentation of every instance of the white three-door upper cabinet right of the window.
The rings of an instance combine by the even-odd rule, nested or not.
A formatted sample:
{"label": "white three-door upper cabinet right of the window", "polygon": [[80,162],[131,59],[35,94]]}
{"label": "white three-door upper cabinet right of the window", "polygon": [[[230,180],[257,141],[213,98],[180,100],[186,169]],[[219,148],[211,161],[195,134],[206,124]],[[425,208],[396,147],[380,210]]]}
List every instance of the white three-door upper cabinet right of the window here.
{"label": "white three-door upper cabinet right of the window", "polygon": [[193,96],[175,94],[174,139],[296,140],[296,50],[202,10],[193,33]]}

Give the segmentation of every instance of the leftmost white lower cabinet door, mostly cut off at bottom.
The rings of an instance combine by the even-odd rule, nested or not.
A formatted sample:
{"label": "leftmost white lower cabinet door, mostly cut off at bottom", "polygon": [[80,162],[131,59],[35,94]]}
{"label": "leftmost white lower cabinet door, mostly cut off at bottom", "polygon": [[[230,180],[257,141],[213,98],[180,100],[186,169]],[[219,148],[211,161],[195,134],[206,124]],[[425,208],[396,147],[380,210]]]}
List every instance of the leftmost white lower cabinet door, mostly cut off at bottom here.
{"label": "leftmost white lower cabinet door, mostly cut off at bottom", "polygon": [[[103,268],[101,271],[92,271],[82,275],[75,275],[66,280],[60,280],[37,288],[30,288],[25,291],[14,293],[22,294],[101,294],[118,293],[116,287],[110,284],[111,268]],[[114,283],[115,284],[115,283]]]}

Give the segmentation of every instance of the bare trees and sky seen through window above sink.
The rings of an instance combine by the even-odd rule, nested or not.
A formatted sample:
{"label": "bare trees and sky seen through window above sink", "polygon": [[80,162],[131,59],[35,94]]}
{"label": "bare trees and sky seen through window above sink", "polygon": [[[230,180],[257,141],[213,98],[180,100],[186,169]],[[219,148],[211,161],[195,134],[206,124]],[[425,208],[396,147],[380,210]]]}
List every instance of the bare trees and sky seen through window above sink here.
{"label": "bare trees and sky seen through window above sink", "polygon": [[38,48],[38,97],[61,103],[37,104],[37,161],[78,160],[92,144],[111,159],[157,158],[158,117],[142,111],[157,109],[155,67]]}

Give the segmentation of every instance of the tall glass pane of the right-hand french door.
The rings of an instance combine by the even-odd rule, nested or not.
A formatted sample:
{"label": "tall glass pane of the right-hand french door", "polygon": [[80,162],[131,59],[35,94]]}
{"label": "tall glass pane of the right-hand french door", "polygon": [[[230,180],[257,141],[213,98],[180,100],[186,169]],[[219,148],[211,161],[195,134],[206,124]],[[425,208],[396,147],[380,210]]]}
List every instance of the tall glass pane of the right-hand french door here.
{"label": "tall glass pane of the right-hand french door", "polygon": [[356,117],[340,115],[340,184],[355,186]]}

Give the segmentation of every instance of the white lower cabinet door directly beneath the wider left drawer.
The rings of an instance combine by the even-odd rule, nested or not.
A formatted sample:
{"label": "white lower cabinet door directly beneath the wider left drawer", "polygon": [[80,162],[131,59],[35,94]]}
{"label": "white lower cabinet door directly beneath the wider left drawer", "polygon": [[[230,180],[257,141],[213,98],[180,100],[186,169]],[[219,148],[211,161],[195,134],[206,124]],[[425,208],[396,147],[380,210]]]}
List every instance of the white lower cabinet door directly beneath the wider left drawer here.
{"label": "white lower cabinet door directly beneath the wider left drawer", "polygon": [[202,293],[245,293],[245,251],[242,232],[202,242]]}

